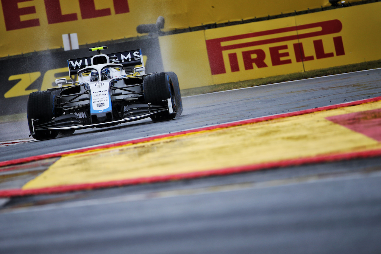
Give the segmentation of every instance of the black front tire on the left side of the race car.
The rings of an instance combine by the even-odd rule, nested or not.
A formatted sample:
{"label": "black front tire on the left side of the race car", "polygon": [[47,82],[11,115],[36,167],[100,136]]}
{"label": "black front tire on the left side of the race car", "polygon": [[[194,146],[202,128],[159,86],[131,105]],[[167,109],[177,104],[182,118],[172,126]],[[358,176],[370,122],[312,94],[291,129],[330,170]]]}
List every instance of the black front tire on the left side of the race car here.
{"label": "black front tire on the left side of the race car", "polygon": [[[56,96],[53,95],[51,91],[38,91],[29,95],[27,118],[30,134],[33,133],[32,119],[38,119],[37,124],[51,121],[55,116],[54,106],[56,105],[56,102]],[[37,140],[43,140],[55,138],[57,135],[58,131],[55,130],[39,130],[36,131],[32,137]]]}

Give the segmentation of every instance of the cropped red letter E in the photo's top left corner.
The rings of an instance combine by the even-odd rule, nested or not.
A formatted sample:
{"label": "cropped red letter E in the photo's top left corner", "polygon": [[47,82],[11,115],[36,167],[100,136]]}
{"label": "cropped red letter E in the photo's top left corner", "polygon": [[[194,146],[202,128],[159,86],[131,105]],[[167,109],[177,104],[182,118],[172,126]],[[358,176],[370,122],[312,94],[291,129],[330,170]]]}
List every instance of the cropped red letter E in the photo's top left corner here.
{"label": "cropped red letter E in the photo's top left corner", "polygon": [[1,0],[3,6],[3,14],[5,21],[5,29],[6,31],[40,26],[39,19],[29,19],[21,21],[20,16],[26,14],[34,14],[36,13],[35,6],[23,7],[19,8],[18,3],[28,2],[31,0]]}

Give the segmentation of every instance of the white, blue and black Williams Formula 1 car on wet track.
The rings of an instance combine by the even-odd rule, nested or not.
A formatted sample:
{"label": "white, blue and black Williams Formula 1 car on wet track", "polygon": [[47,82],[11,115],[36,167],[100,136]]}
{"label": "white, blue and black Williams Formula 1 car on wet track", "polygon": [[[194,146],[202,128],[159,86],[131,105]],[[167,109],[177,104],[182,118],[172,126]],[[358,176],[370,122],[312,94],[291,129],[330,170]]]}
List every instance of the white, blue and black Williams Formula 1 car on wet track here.
{"label": "white, blue and black Williams Formula 1 car on wet track", "polygon": [[97,51],[93,57],[69,59],[71,82],[56,79],[58,87],[30,93],[27,118],[33,138],[50,139],[59,132],[70,135],[146,117],[166,121],[180,116],[182,101],[174,72],[145,74],[140,49],[102,54],[106,48],[90,48]]}

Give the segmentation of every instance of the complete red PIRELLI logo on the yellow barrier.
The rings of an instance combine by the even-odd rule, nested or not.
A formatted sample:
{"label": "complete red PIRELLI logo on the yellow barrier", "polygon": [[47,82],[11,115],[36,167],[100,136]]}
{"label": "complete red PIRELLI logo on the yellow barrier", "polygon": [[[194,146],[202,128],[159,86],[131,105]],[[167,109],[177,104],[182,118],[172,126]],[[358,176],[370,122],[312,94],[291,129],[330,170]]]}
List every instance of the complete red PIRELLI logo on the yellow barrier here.
{"label": "complete red PIRELLI logo on the yellow barrier", "polygon": [[[333,36],[333,45],[335,46],[335,52],[325,52],[323,40],[319,39],[322,35],[337,34],[341,31],[343,25],[338,19],[329,21],[305,24],[300,26],[285,27],[261,32],[253,32],[249,34],[234,35],[228,37],[222,37],[217,39],[206,40],[209,64],[212,75],[226,73],[223,51],[226,50],[239,50],[248,47],[258,46],[260,48],[251,50],[241,50],[235,53],[229,53],[229,65],[232,72],[240,71],[238,58],[242,57],[245,70],[254,69],[254,64],[257,68],[268,67],[270,61],[265,63],[266,53],[263,50],[266,45],[271,43],[285,42],[285,45],[276,47],[269,47],[270,59],[272,66],[290,64],[293,62],[311,61],[314,59],[329,58],[333,56],[345,55],[343,39],[341,36]],[[308,29],[308,30],[307,30]],[[315,30],[314,32],[311,32]],[[282,36],[282,33],[296,31],[294,35]],[[306,32],[304,32],[306,31]],[[273,37],[271,36],[273,35]],[[261,38],[272,37],[270,39]],[[313,46],[315,55],[305,55],[303,43],[301,39],[317,37],[313,40]],[[241,43],[235,43],[239,40]],[[298,43],[293,43],[290,50],[295,52],[296,59],[290,59],[290,52],[288,52],[287,41],[299,40]],[[269,45],[270,46],[270,45]],[[230,51],[231,52],[231,51]]]}

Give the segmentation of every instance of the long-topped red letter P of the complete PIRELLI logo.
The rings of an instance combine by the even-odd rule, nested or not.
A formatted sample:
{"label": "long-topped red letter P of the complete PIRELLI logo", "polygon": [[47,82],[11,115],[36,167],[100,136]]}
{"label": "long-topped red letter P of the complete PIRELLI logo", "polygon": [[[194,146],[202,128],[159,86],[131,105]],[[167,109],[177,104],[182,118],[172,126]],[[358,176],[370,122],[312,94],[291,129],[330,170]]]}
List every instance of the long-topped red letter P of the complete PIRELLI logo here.
{"label": "long-topped red letter P of the complete PIRELLI logo", "polygon": [[[307,32],[304,34],[301,33],[305,29],[310,29],[314,27],[321,27],[321,29],[316,32]],[[223,51],[225,50],[252,47],[257,45],[265,45],[265,44],[276,43],[276,42],[285,42],[290,40],[299,40],[299,39],[305,39],[305,38],[327,35],[327,34],[335,34],[340,32],[342,28],[343,28],[343,25],[341,24],[341,22],[338,19],[333,19],[329,21],[311,23],[311,24],[294,26],[294,27],[285,27],[285,28],[279,28],[279,29],[273,29],[273,30],[267,30],[267,31],[261,31],[261,32],[253,32],[249,34],[241,34],[241,35],[234,35],[234,36],[206,40],[211,73],[212,75],[226,73],[224,58],[223,58]],[[263,35],[272,35],[272,34],[276,35],[276,34],[280,34],[284,32],[292,32],[292,31],[298,31],[298,34],[221,46],[222,42],[229,42],[233,40],[240,40],[240,39],[247,39],[247,38],[255,38],[255,37],[260,37]],[[340,47],[339,39],[337,39],[337,44],[338,44],[338,47]],[[318,52],[323,53],[322,51],[323,48],[320,46],[321,45],[319,44],[319,42],[317,42]],[[315,48],[315,51],[316,51],[316,48]],[[330,55],[330,53],[328,53],[328,55]],[[323,53],[323,55],[320,54],[319,56],[327,56],[327,55]],[[282,61],[287,62],[287,60],[282,60]],[[284,63],[285,62],[283,62],[283,64]]]}

